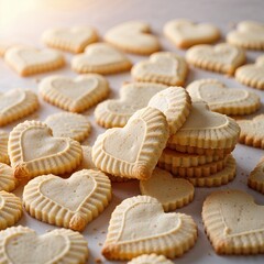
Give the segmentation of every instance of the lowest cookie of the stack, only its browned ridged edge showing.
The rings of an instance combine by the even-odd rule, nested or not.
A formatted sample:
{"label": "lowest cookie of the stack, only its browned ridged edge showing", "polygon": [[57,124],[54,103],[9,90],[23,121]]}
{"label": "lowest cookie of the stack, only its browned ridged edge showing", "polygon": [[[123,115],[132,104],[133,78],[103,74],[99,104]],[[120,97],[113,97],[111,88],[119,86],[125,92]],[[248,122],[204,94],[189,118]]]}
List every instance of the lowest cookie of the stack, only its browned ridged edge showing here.
{"label": "lowest cookie of the stack, only its browned ridged edge showing", "polygon": [[232,155],[229,155],[222,170],[207,177],[189,177],[188,180],[196,187],[218,187],[233,180],[235,170],[235,160]]}

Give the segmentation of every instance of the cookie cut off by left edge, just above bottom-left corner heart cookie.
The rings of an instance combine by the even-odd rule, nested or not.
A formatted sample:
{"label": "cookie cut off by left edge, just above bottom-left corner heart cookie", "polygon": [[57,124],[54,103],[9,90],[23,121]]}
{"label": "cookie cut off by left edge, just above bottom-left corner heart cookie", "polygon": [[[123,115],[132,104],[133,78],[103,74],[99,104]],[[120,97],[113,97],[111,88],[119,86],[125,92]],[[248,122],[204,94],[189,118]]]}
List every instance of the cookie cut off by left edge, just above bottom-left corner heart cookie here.
{"label": "cookie cut off by left edge, just above bottom-left corner heart cookie", "polygon": [[[0,191],[0,230],[3,230],[16,223],[22,217],[22,212],[23,212],[23,209],[22,209],[21,199],[13,194],[1,190]],[[3,263],[3,262],[0,261],[0,263]]]}

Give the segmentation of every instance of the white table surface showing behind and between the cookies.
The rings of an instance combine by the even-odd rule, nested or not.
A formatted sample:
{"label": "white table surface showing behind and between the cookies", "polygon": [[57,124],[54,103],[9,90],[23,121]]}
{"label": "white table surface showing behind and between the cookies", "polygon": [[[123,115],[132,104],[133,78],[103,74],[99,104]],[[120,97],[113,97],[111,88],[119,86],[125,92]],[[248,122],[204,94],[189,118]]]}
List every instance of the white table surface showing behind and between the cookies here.
{"label": "white table surface showing behind and between the cookies", "polygon": [[[153,31],[158,35],[163,48],[165,51],[174,51],[184,55],[185,51],[177,50],[162,34],[164,23],[170,19],[187,18],[197,22],[211,22],[218,25],[222,35],[230,31],[235,22],[241,20],[258,20],[264,22],[264,1],[249,0],[200,0],[200,1],[158,1],[158,0],[94,0],[94,1],[77,1],[77,0],[1,0],[0,1],[0,38],[14,40],[21,43],[26,43],[35,46],[43,46],[40,41],[41,33],[53,26],[67,25],[94,25],[100,35],[112,25],[127,20],[145,20],[151,23]],[[222,38],[223,40],[223,38]],[[261,52],[246,52],[248,62],[253,62]],[[45,76],[52,74],[63,74],[67,76],[76,76],[70,69],[72,55],[65,53],[67,57],[67,66],[63,69],[36,75],[33,77],[21,78],[13,73],[2,59],[0,59],[0,91],[6,91],[11,88],[22,87],[30,88],[37,92],[37,82]],[[146,59],[144,56],[129,55],[133,63],[141,59]],[[227,86],[232,88],[244,88],[255,91],[264,102],[264,91],[258,91],[252,88],[244,87],[237,82],[233,78],[228,78],[220,74],[209,73],[202,69],[190,67],[190,73],[187,84],[200,78],[217,78],[222,80]],[[110,81],[112,94],[111,98],[118,97],[118,90],[123,81],[131,80],[130,73],[107,76]],[[44,120],[48,114],[62,111],[44,102],[41,98],[40,110],[30,117],[30,119]],[[92,123],[92,133],[85,144],[92,145],[97,135],[103,132],[94,121],[94,109],[85,112]],[[257,113],[264,113],[262,107]],[[25,119],[24,119],[25,120]],[[23,121],[23,120],[22,120]],[[19,122],[14,122],[3,128],[6,131],[11,131]],[[263,150],[253,148],[238,144],[234,152],[234,157],[238,163],[238,173],[235,179],[219,188],[196,188],[195,200],[177,211],[191,215],[198,224],[198,240],[194,249],[184,256],[176,258],[175,263],[228,263],[234,264],[244,263],[264,263],[263,255],[256,256],[219,256],[217,255],[204,231],[201,223],[201,206],[206,196],[217,189],[238,188],[251,194],[257,204],[264,204],[264,196],[248,188],[246,176],[256,165]],[[113,199],[110,206],[88,227],[82,234],[88,240],[89,244],[89,263],[96,263],[95,258],[100,258],[103,263],[116,263],[106,261],[100,254],[102,243],[106,238],[108,222],[114,207],[124,198],[140,194],[139,183],[131,182],[124,184],[112,184]],[[23,187],[19,187],[14,193],[21,195]],[[56,227],[42,223],[34,218],[31,218],[26,212],[18,224],[28,226],[44,233],[47,230]],[[120,262],[117,262],[120,263]]]}

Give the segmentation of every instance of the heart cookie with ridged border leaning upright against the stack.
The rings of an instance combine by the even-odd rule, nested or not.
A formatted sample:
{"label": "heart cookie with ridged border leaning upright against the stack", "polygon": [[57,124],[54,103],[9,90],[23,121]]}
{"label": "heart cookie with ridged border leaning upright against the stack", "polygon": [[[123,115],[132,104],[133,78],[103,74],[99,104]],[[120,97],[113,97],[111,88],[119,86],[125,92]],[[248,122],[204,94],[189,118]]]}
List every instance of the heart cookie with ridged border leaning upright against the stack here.
{"label": "heart cookie with ridged border leaning upright against the stack", "polygon": [[99,169],[111,175],[147,179],[167,140],[165,116],[157,109],[143,108],[124,128],[109,129],[97,138],[92,161]]}

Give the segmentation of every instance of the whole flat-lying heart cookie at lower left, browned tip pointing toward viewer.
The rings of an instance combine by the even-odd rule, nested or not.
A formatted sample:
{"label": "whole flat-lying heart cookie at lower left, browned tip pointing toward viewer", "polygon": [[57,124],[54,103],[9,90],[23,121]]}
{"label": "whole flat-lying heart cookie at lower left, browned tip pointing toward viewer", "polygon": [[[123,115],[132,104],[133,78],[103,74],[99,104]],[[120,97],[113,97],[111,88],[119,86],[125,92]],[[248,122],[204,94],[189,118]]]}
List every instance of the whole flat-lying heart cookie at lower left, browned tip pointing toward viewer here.
{"label": "whole flat-lying heart cookie at lower left, browned tip pointing toward viewer", "polygon": [[82,231],[110,200],[110,180],[98,169],[82,169],[68,179],[43,175],[30,180],[23,191],[25,210],[32,217],[77,231]]}

